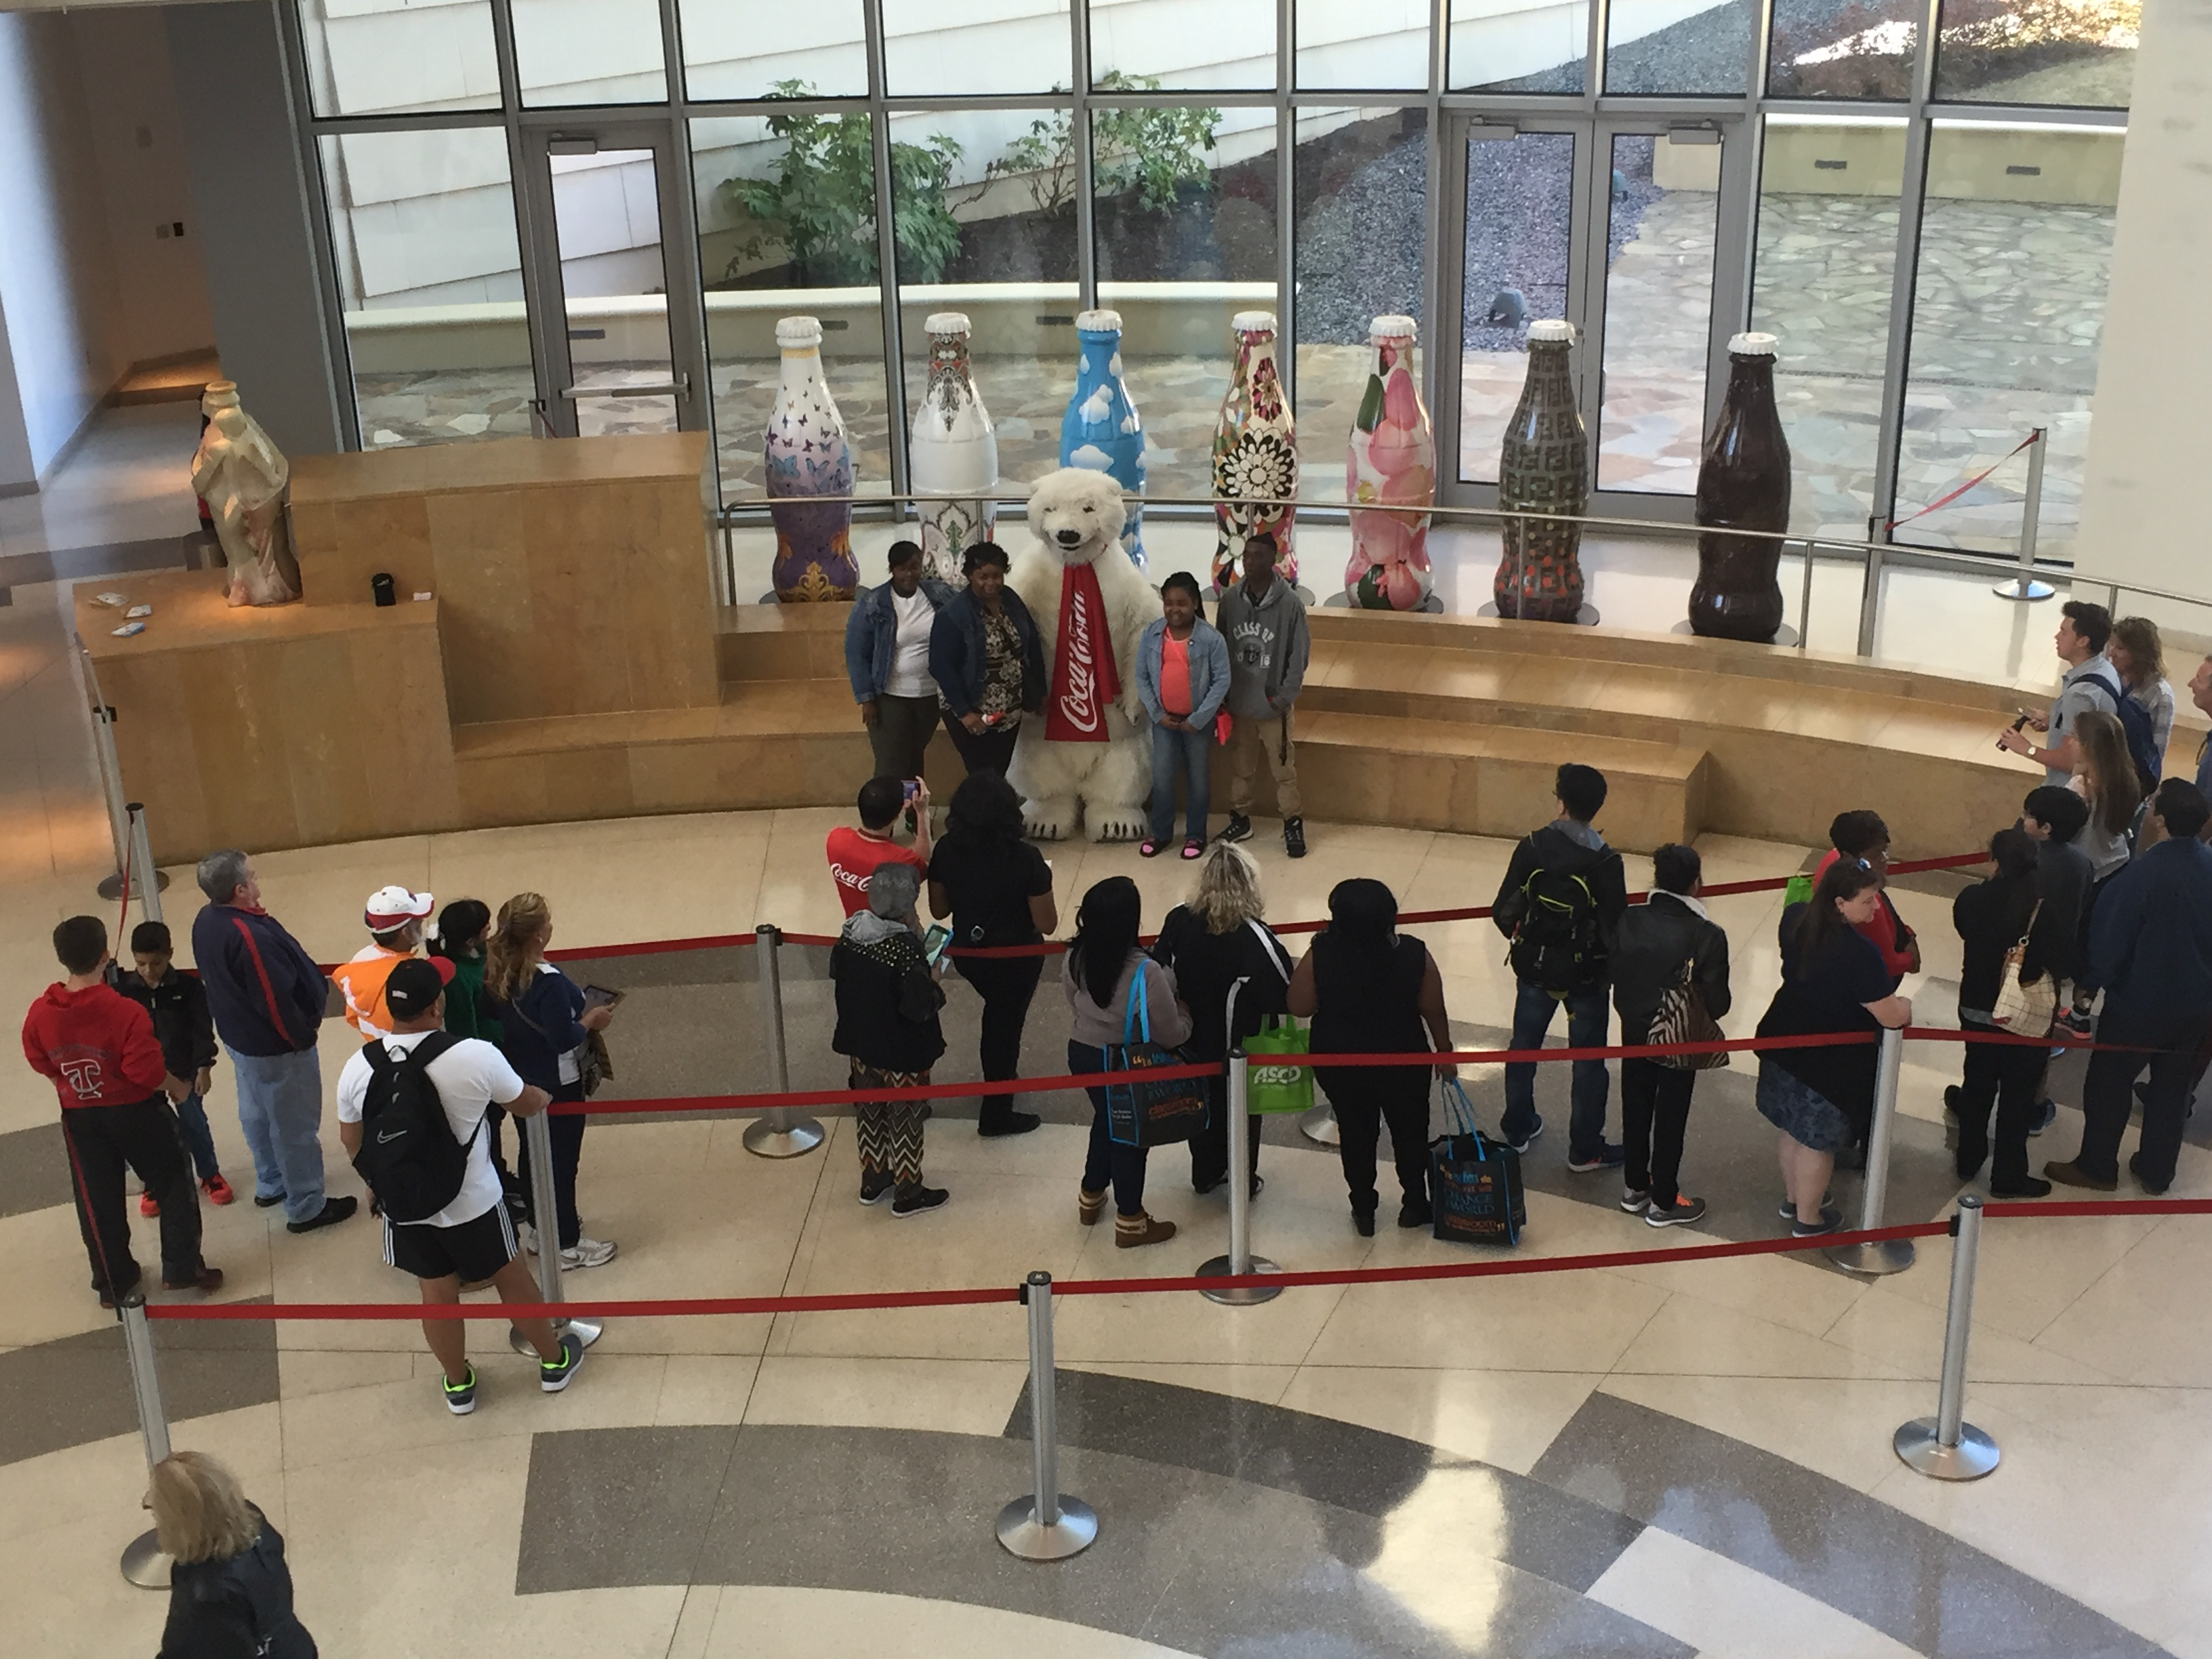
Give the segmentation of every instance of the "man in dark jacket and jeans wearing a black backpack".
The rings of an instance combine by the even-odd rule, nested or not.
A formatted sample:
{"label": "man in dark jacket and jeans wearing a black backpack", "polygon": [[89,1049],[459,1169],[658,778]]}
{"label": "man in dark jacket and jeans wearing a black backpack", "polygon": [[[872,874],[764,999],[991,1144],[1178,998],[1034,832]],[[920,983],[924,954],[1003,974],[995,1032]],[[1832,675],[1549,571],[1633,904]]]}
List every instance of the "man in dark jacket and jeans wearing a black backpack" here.
{"label": "man in dark jacket and jeans wearing a black backpack", "polygon": [[[1537,1048],[1551,1015],[1566,1004],[1571,1048],[1601,1048],[1606,1026],[1606,958],[1628,909],[1621,856],[1597,834],[1606,774],[1568,761],[1553,787],[1559,816],[1522,836],[1498,887],[1491,920],[1513,940],[1506,960],[1520,980],[1513,1002],[1513,1046]],[[1621,1148],[1606,1139],[1610,1082],[1604,1060],[1577,1060],[1566,1119],[1566,1168],[1575,1175],[1617,1170]],[[1515,1152],[1544,1133],[1535,1110],[1535,1062],[1506,1066],[1506,1115],[1498,1130]]]}

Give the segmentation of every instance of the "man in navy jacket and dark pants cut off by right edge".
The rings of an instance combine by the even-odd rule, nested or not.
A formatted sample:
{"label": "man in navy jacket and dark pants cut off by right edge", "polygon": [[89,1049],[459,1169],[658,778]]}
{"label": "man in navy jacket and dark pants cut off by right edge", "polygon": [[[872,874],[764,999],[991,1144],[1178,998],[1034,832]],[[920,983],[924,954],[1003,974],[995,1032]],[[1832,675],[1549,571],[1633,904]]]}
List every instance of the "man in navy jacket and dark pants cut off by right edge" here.
{"label": "man in navy jacket and dark pants cut off by right edge", "polygon": [[2146,1066],[2143,1135],[2128,1170],[2152,1197],[2174,1181],[2197,1048],[2212,1024],[2212,847],[2197,838],[2208,816],[2194,783],[2166,779],[2143,814],[2143,849],[2097,900],[2077,984],[2104,991],[2104,1015],[2081,1084],[2081,1150],[2044,1166],[2062,1186],[2119,1188],[2119,1137]]}

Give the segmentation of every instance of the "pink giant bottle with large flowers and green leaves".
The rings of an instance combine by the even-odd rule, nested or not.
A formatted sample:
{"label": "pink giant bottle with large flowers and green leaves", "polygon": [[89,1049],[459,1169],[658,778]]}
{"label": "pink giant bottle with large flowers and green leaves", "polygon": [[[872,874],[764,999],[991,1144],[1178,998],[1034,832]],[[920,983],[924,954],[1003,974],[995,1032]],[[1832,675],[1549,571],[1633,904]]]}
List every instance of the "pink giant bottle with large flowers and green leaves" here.
{"label": "pink giant bottle with large flowers and green leaves", "polygon": [[1378,316],[1367,325],[1374,365],[1345,456],[1345,500],[1352,502],[1345,595],[1367,611],[1418,611],[1433,586],[1429,513],[1360,511],[1427,509],[1436,502],[1436,429],[1413,380],[1418,332],[1411,316]]}

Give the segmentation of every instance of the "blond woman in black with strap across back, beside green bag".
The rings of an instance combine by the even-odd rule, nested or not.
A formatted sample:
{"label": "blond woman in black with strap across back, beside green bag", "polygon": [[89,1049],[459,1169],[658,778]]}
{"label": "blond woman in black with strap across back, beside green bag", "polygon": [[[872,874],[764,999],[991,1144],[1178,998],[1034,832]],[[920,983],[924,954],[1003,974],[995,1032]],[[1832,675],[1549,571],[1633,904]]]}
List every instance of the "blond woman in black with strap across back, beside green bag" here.
{"label": "blond woman in black with strap across back, beside green bag", "polygon": [[[1228,1060],[1270,1013],[1287,1013],[1290,953],[1261,920],[1259,865],[1232,841],[1217,841],[1199,865],[1188,905],[1159,925],[1152,958],[1175,969],[1190,1004],[1192,1060]],[[1234,998],[1234,1011],[1232,1011]],[[1230,1179],[1230,1079],[1210,1077],[1212,1113],[1190,1139],[1190,1186],[1212,1192]],[[1252,1197],[1259,1197],[1259,1117],[1252,1117]]]}

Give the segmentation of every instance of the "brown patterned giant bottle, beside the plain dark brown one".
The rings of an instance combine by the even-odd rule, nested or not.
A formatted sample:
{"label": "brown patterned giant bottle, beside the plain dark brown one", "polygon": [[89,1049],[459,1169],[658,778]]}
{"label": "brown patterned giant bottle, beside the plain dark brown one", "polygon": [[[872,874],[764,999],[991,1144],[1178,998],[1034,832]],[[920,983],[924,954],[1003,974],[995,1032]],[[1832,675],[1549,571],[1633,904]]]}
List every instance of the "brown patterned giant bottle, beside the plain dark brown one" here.
{"label": "brown patterned giant bottle, beside the plain dark brown one", "polygon": [[1498,507],[1566,518],[1504,520],[1493,593],[1500,617],[1573,622],[1582,611],[1582,524],[1590,504],[1590,442],[1575,407],[1573,323],[1528,325],[1528,378],[1498,456]]}

